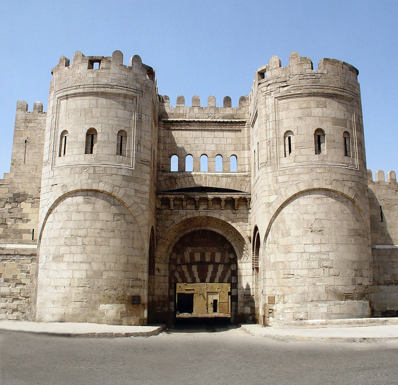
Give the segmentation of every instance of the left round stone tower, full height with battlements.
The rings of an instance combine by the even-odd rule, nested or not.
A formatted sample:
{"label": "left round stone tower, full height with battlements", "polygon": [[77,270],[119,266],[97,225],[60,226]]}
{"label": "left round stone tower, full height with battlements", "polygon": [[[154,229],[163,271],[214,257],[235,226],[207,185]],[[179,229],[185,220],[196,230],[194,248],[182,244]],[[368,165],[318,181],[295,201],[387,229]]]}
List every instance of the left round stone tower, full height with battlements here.
{"label": "left round stone tower, full height with battlements", "polygon": [[147,317],[157,93],[133,56],[61,56],[41,182],[36,319],[139,325]]}

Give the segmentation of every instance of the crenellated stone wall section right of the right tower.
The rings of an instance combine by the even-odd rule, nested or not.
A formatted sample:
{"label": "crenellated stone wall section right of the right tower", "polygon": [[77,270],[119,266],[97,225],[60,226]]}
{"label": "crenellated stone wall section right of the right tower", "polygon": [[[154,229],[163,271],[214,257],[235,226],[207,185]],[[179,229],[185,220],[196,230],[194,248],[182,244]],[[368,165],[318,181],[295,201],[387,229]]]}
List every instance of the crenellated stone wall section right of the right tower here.
{"label": "crenellated stone wall section right of the right tower", "polygon": [[378,317],[398,315],[398,184],[394,171],[368,170],[372,234],[371,299]]}

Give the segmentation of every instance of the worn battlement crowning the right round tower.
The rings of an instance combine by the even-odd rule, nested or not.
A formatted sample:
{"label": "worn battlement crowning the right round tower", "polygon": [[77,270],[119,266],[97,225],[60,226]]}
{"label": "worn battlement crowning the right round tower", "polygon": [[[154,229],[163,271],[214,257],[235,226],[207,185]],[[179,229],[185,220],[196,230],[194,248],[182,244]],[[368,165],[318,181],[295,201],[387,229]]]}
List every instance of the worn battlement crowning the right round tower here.
{"label": "worn battlement crowning the right round tower", "polygon": [[301,57],[298,52],[292,52],[289,56],[289,66],[282,67],[279,57],[272,56],[268,64],[258,68],[255,79],[261,82],[280,77],[289,78],[293,75],[307,75],[310,79],[316,74],[331,75],[357,81],[359,71],[354,66],[351,66],[351,64],[331,58],[321,59],[318,62],[318,70],[314,70],[310,58]]}

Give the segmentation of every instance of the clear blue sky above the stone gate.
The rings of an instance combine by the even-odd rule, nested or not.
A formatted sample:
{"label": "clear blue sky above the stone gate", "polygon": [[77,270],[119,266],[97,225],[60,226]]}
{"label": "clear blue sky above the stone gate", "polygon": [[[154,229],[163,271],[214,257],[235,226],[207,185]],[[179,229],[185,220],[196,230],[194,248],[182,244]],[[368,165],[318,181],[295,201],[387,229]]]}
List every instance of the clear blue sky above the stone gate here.
{"label": "clear blue sky above the stone gate", "polygon": [[359,69],[367,167],[398,172],[398,1],[0,0],[0,177],[10,169],[17,100],[47,110],[60,56],[138,54],[176,103],[238,105],[272,55],[336,58]]}

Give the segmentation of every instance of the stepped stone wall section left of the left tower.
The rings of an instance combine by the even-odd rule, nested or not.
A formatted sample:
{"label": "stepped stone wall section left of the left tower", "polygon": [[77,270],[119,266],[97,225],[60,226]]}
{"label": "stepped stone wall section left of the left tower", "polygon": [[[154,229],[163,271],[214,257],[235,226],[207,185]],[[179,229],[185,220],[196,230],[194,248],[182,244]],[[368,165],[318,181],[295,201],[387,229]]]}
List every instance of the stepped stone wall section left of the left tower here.
{"label": "stepped stone wall section left of the left tower", "polygon": [[10,172],[0,180],[0,318],[32,320],[46,113],[19,101]]}

